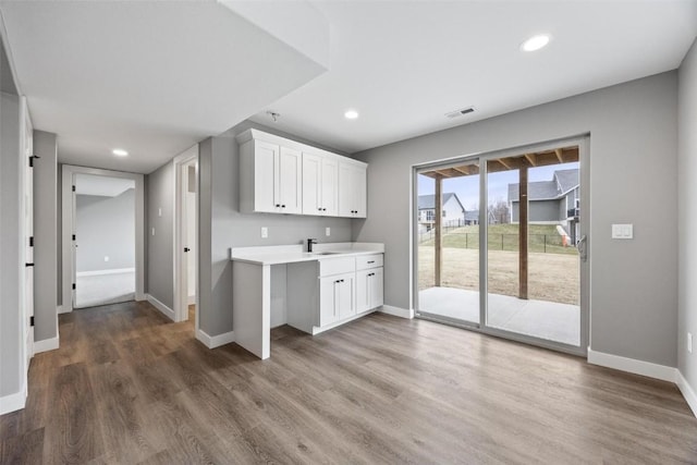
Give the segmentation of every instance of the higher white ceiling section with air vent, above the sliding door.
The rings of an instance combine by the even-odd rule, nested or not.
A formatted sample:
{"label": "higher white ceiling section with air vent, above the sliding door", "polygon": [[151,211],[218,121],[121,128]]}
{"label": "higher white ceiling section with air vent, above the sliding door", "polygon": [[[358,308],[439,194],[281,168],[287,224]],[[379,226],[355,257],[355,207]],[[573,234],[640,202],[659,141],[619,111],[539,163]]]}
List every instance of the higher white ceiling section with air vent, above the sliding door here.
{"label": "higher white ceiling section with air vent, above the sliding door", "polygon": [[[253,120],[346,152],[676,69],[697,35],[695,0],[315,4],[332,27],[330,71]],[[550,45],[521,52],[538,33]]]}

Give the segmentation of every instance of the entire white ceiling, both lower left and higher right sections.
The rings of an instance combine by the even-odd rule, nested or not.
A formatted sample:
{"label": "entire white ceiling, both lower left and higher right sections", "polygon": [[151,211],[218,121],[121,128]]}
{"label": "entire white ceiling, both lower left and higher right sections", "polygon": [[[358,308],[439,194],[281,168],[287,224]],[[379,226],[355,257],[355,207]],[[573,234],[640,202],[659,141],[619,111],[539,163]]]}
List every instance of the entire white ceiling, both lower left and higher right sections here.
{"label": "entire white ceiling, both lower left and higher right sections", "polygon": [[[306,2],[0,0],[0,12],[59,160],[143,173],[250,115],[355,152],[673,70],[697,35],[697,0],[310,3],[331,27],[325,74],[322,48],[303,49],[325,36],[296,37],[322,25],[291,16]],[[550,46],[522,53],[540,32]]]}

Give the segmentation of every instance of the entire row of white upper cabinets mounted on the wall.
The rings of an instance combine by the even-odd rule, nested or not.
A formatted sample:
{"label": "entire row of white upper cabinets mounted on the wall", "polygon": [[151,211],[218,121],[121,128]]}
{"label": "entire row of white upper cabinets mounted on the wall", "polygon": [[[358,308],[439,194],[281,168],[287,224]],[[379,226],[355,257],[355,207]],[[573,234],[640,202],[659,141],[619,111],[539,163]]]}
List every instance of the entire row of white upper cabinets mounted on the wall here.
{"label": "entire row of white upper cabinets mounted on the wall", "polygon": [[257,130],[236,138],[241,211],[366,217],[366,163]]}

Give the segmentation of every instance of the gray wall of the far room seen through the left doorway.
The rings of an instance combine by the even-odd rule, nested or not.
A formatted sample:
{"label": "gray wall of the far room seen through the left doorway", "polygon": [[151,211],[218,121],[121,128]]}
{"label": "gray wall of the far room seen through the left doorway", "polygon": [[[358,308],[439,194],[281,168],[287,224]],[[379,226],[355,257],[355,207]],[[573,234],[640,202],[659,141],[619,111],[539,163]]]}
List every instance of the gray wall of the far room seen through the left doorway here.
{"label": "gray wall of the far room seen through the left doorway", "polygon": [[78,273],[135,269],[135,188],[115,197],[78,194],[75,216]]}

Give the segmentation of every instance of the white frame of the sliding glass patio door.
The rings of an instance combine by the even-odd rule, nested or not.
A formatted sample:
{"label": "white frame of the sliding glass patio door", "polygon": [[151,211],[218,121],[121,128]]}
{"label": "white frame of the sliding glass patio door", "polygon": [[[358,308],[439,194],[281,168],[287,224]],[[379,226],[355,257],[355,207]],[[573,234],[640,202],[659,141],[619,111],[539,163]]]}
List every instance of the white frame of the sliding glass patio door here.
{"label": "white frame of the sliding glass patio door", "polygon": [[[543,340],[526,334],[515,333],[498,328],[489,327],[487,321],[487,304],[488,304],[488,280],[487,280],[487,242],[479,242],[479,323],[467,325],[465,322],[449,321],[447,318],[438,318],[439,322],[444,322],[494,335],[512,341],[523,342],[530,345],[537,345],[545,348],[551,348],[558,352],[568,353],[586,357],[588,355],[588,346],[590,342],[590,260],[591,260],[591,238],[590,238],[590,134],[579,134],[570,137],[552,139],[548,142],[528,144],[499,150],[490,150],[485,152],[476,152],[447,159],[428,161],[412,166],[412,259],[411,259],[411,298],[412,308],[418,318],[435,320],[428,316],[419,316],[418,311],[418,174],[431,168],[448,168],[460,166],[462,163],[476,161],[479,164],[479,236],[488,236],[487,208],[488,205],[488,171],[487,161],[496,158],[511,157],[523,155],[528,151],[542,151],[546,149],[559,148],[560,146],[577,145],[578,146],[578,168],[580,183],[580,229],[579,237],[586,236],[587,259],[579,259],[579,310],[580,310],[580,342],[578,347],[568,344],[558,343]],[[485,208],[482,208],[485,206]]]}

